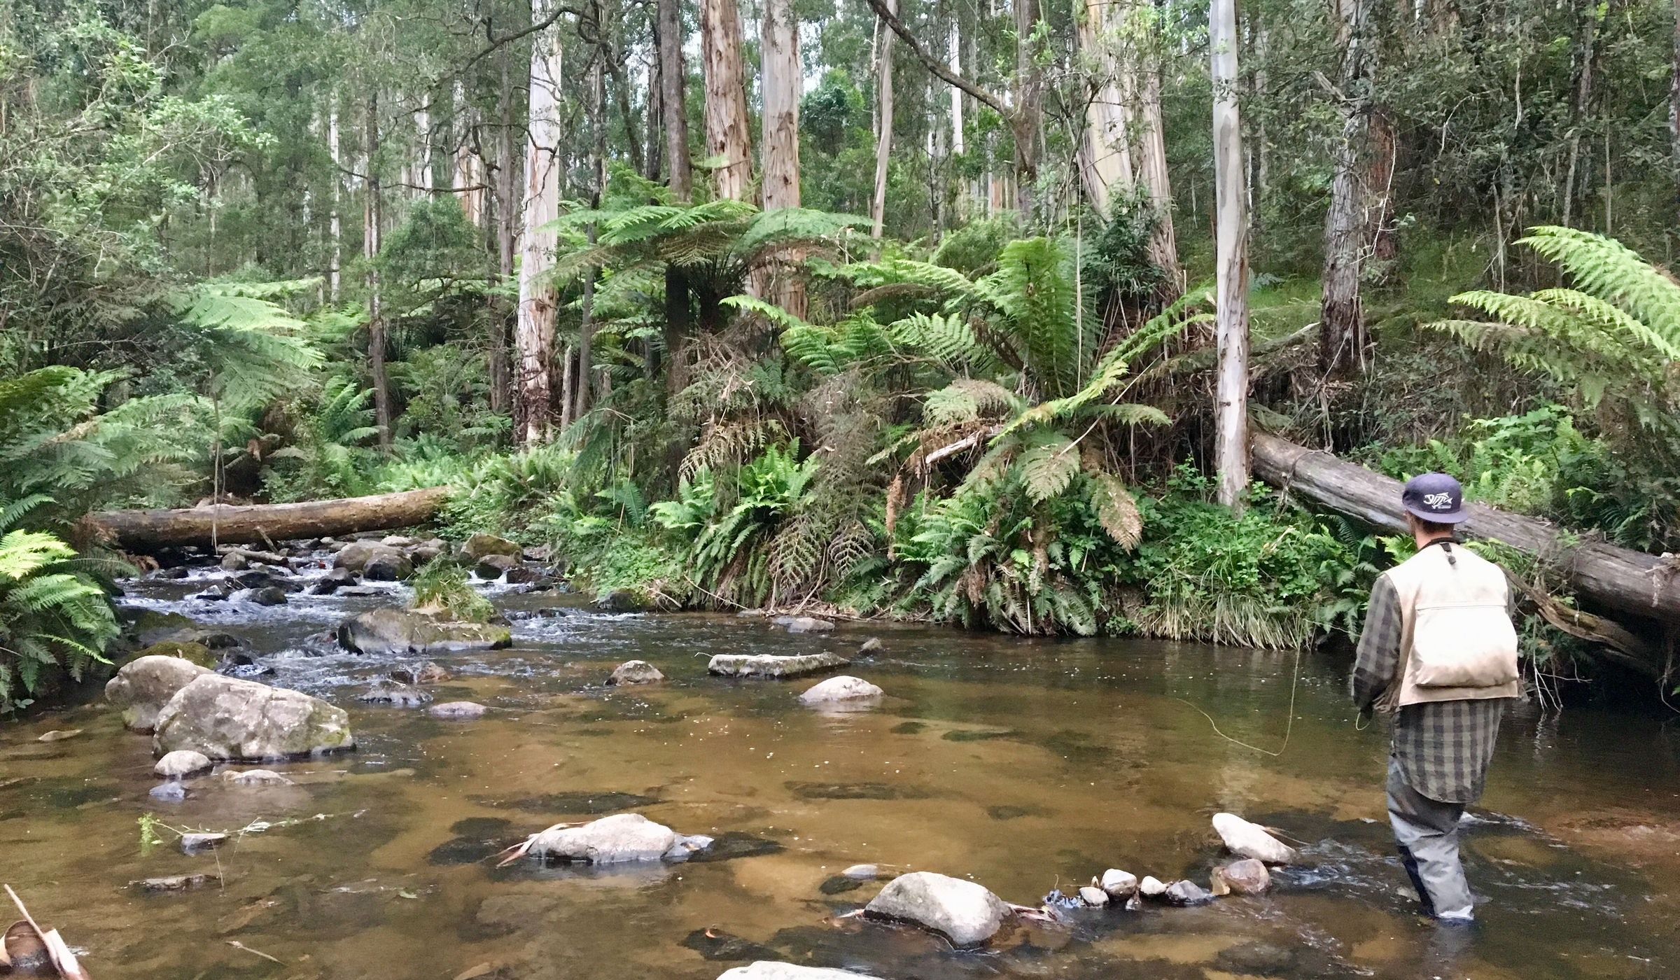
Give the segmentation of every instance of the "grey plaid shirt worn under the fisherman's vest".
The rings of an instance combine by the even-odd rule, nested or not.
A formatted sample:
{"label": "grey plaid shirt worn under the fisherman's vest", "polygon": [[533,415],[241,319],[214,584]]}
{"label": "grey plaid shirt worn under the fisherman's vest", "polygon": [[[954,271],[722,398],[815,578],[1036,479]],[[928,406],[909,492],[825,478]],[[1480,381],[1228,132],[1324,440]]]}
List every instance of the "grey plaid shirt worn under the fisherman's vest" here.
{"label": "grey plaid shirt worn under the fisherman's vest", "polygon": [[[1361,711],[1388,689],[1399,669],[1399,595],[1381,577],[1359,634],[1352,694]],[[1494,758],[1499,721],[1510,698],[1406,704],[1394,714],[1393,753],[1406,783],[1441,803],[1473,803]]]}

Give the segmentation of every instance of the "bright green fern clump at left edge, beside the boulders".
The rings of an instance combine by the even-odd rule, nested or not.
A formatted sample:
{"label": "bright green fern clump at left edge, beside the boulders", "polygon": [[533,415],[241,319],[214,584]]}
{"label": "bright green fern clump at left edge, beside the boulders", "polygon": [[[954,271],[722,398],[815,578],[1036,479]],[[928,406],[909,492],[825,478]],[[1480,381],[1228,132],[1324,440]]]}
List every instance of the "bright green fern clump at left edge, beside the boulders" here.
{"label": "bright green fern clump at left edge, beside the boulders", "polygon": [[0,498],[0,714],[32,703],[64,672],[81,679],[104,661],[116,617],[76,550],[17,523],[45,496]]}

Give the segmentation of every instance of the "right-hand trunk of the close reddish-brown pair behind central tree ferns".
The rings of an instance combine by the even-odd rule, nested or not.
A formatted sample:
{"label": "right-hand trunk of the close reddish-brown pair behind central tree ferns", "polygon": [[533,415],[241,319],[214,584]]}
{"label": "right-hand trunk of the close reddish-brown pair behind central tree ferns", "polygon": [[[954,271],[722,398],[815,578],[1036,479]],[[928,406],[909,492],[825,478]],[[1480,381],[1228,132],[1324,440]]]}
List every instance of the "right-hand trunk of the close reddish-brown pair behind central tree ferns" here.
{"label": "right-hand trunk of the close reddish-brown pair behind central tree ferns", "polygon": [[[800,207],[800,22],[790,0],[764,0],[759,30],[764,99],[764,210]],[[776,303],[805,319],[805,281],[796,249],[780,249],[773,262]]]}

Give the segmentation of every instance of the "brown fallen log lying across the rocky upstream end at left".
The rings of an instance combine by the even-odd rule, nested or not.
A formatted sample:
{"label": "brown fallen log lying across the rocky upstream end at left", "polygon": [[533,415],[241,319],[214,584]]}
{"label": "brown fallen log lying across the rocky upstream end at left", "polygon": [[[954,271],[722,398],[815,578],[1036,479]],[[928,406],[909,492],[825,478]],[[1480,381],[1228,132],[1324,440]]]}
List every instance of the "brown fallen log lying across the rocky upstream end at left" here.
{"label": "brown fallen log lying across the rocky upstream end at left", "polygon": [[124,551],[181,545],[272,545],[294,538],[328,538],[422,524],[449,498],[433,486],[370,498],[296,504],[213,504],[171,511],[101,511],[87,514],[92,531]]}

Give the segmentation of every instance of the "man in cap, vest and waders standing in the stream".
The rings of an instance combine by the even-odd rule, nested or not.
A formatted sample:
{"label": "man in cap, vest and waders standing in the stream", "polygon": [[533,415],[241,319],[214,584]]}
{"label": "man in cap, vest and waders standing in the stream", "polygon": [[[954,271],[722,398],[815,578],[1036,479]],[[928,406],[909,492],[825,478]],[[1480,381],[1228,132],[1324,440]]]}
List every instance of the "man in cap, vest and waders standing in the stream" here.
{"label": "man in cap, vest and waders standing in the stream", "polygon": [[1361,714],[1394,718],[1388,819],[1423,913],[1468,923],[1458,819],[1482,797],[1505,704],[1517,698],[1517,632],[1505,573],[1453,540],[1463,489],[1426,472],[1401,491],[1418,553],[1378,577],[1359,637]]}

